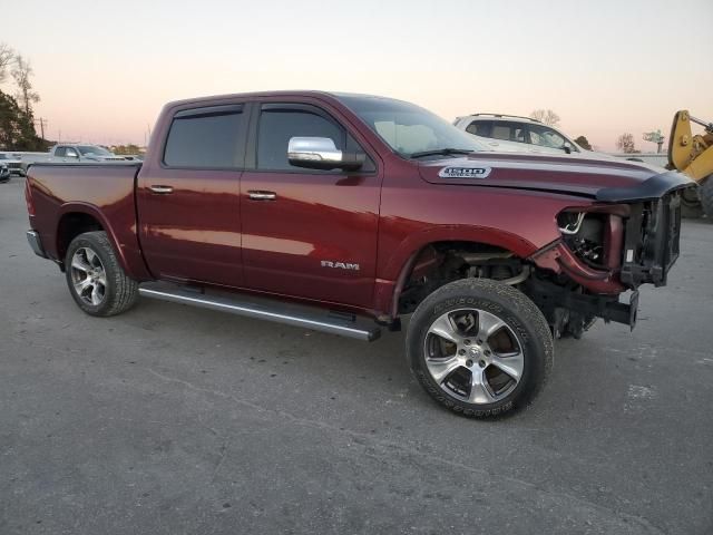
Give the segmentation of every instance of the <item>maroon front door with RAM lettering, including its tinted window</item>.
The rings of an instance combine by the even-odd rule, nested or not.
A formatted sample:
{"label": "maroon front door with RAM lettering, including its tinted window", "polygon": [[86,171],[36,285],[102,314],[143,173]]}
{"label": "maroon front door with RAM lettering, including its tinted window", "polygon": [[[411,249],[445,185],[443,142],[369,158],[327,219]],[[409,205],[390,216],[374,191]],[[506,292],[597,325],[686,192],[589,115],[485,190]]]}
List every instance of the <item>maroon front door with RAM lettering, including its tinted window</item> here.
{"label": "maroon front door with RAM lettering, including its tinted window", "polygon": [[[315,114],[322,119],[314,114],[304,116],[310,115],[304,106],[291,111],[267,106],[263,106],[257,127],[257,169],[246,169],[241,179],[246,286],[370,307],[377,265],[379,173],[372,162],[368,166],[372,171],[349,175],[290,166],[286,153],[291,137],[330,137],[340,149],[345,145],[353,148],[349,145],[355,142],[320,109]],[[251,192],[274,193],[274,198],[251,198]]]}

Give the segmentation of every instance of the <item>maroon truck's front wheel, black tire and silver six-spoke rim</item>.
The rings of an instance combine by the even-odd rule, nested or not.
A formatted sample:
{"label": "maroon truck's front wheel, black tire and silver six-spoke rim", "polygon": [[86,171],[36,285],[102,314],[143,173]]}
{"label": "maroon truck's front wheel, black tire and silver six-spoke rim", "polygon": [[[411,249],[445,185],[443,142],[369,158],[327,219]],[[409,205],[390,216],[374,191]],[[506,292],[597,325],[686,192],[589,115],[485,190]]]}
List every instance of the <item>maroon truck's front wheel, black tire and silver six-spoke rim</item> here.
{"label": "maroon truck's front wheel, black tire and silver six-spoke rim", "polygon": [[426,391],[471,418],[526,406],[554,361],[549,327],[535,303],[485,279],[451,282],[426,298],[411,318],[407,353]]}

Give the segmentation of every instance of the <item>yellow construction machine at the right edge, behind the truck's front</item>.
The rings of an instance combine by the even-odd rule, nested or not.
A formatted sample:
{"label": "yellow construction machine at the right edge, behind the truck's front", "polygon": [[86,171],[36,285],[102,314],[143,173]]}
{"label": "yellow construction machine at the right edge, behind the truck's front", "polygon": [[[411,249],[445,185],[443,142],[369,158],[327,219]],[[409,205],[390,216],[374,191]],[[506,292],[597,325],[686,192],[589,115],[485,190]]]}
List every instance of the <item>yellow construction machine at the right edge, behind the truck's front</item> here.
{"label": "yellow construction machine at the right edge, behind the truck's front", "polygon": [[[693,135],[691,123],[703,127],[703,134]],[[693,215],[701,208],[713,218],[713,123],[697,119],[687,109],[676,111],[668,138],[668,168],[678,169],[699,183],[696,189],[686,189],[684,203]]]}

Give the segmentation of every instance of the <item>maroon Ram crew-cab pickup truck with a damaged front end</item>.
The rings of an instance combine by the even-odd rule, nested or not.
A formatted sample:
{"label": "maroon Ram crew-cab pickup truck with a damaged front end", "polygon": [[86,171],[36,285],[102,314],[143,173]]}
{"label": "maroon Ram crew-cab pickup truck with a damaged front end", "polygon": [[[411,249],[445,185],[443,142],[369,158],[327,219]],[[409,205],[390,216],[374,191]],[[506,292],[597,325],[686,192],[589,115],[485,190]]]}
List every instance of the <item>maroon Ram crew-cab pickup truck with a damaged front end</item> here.
{"label": "maroon Ram crew-cab pickup truck with a damaged front end", "polygon": [[554,339],[634,327],[691,184],[485,152],[408,103],[300,91],[168,104],[143,164],[36,164],[26,196],[30,245],[88,314],[145,295],[364,340],[411,315],[423,388],[492,417],[539,391]]}

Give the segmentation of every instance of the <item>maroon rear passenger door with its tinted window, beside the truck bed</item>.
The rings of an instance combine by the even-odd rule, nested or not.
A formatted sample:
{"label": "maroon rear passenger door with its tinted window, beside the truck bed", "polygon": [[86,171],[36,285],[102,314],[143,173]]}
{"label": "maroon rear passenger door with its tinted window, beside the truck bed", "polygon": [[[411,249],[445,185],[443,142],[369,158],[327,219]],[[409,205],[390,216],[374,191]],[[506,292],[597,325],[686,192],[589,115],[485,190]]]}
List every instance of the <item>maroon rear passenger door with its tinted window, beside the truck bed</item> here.
{"label": "maroon rear passenger door with its tinted window, beside the truck bed", "polygon": [[178,110],[160,166],[141,169],[141,247],[154,276],[243,285],[240,179],[242,105]]}

